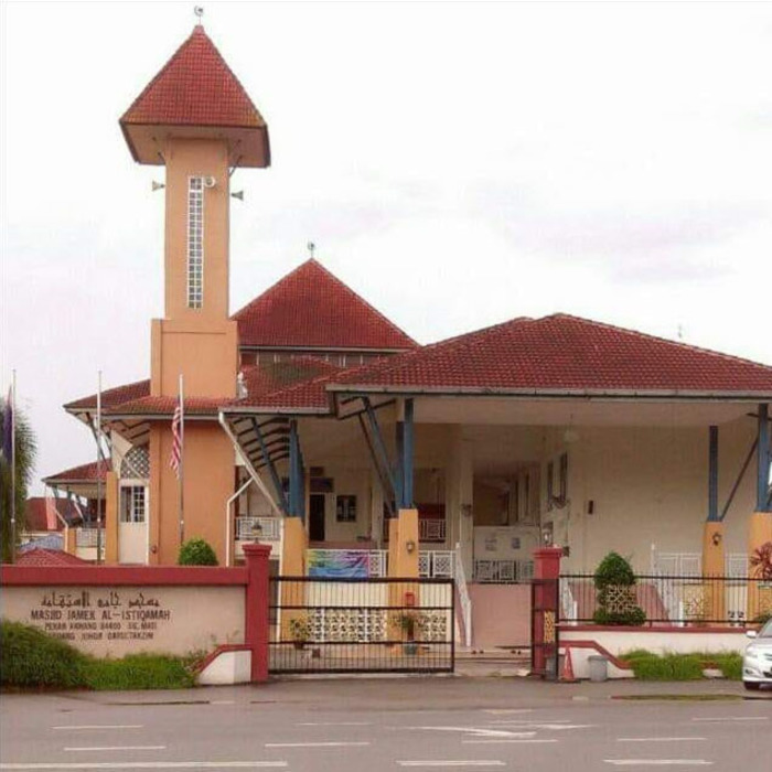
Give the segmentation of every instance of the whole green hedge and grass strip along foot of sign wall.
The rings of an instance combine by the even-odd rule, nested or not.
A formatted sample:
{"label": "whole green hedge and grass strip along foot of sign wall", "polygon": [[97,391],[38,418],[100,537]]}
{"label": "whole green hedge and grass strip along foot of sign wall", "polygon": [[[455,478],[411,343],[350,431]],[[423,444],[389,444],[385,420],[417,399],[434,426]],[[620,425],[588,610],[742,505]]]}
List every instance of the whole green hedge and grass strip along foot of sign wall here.
{"label": "whole green hedge and grass strip along foot of sign wall", "polygon": [[200,655],[132,654],[96,658],[36,628],[0,622],[0,686],[52,689],[184,689]]}

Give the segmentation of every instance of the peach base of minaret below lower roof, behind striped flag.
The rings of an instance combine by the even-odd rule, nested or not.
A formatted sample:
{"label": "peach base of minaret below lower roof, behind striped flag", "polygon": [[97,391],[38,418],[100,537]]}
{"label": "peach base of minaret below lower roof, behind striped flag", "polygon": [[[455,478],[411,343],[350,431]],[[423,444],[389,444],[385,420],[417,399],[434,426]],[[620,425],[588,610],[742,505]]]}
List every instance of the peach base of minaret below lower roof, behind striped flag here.
{"label": "peach base of minaret below lower roof, behind striped flag", "polygon": [[[150,548],[151,562],[176,564],[180,548],[179,492],[169,465],[170,423],[156,423],[150,433]],[[234,491],[234,452],[214,421],[185,422],[184,447],[185,540],[203,538],[225,565],[225,504]],[[153,546],[158,551],[153,554]]]}

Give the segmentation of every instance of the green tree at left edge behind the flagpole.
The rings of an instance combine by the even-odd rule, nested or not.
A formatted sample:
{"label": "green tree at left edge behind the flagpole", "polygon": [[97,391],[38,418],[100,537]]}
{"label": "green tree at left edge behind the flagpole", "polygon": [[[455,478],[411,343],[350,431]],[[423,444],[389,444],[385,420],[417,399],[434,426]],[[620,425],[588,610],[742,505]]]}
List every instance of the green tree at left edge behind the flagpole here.
{"label": "green tree at left edge behind the flagpole", "polygon": [[10,406],[6,399],[0,397],[0,415],[4,420],[0,420],[0,558],[2,562],[11,562],[15,554],[13,545],[13,533],[11,516],[13,506],[11,497],[14,486],[11,484],[12,461],[11,461],[11,427],[15,436],[15,542],[19,544],[21,533],[24,530],[26,495],[32,482],[32,472],[35,465],[35,454],[37,446],[32,427],[23,412],[17,407],[15,414],[10,416]]}

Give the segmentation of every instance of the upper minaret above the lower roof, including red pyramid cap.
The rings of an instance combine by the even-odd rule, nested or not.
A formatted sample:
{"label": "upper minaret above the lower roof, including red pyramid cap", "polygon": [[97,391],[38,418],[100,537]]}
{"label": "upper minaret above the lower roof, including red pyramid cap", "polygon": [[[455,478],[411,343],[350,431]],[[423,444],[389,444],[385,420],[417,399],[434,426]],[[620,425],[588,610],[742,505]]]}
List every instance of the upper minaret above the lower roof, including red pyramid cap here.
{"label": "upper minaret above the lower roof, including red pyramid cap", "polygon": [[164,165],[164,319],[152,323],[151,395],[236,393],[228,319],[229,172],[270,163],[268,127],[196,25],[120,119],[139,163]]}

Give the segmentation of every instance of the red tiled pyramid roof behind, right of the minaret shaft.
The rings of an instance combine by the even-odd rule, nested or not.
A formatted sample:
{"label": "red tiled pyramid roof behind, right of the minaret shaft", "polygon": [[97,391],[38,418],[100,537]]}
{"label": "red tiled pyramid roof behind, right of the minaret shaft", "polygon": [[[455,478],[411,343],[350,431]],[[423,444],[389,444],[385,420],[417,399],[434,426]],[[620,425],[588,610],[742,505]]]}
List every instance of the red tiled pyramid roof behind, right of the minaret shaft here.
{"label": "red tiled pyramid roof behind, right of the minaret shaft", "polygon": [[240,345],[393,351],[417,343],[310,259],[233,315]]}

